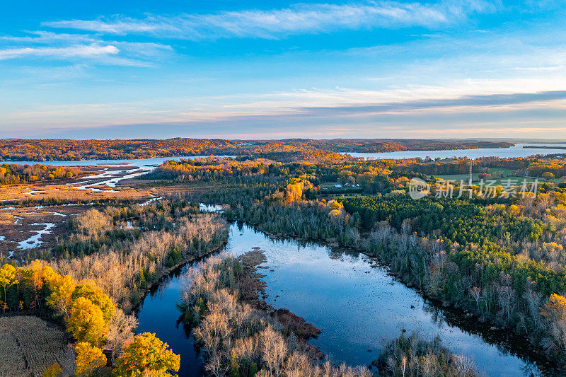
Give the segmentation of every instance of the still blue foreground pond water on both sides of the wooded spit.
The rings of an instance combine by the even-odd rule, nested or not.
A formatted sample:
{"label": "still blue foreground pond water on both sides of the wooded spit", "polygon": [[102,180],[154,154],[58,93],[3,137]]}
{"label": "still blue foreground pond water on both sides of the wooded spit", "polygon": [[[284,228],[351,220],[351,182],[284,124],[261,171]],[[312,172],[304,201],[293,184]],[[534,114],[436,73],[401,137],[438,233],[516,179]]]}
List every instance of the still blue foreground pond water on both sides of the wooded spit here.
{"label": "still blue foreground pond water on both sides of the wooded spit", "polygon": [[[270,238],[250,226],[231,225],[225,251],[241,255],[255,246],[265,251],[264,265],[270,267],[261,271],[267,275],[267,303],[287,308],[319,327],[322,332],[311,343],[331,361],[370,364],[379,349],[405,329],[430,339],[439,334],[452,352],[472,357],[487,376],[538,374],[531,363],[495,345],[504,340],[463,330],[469,326],[462,321],[461,327],[454,325],[450,313],[395,282],[386,269],[370,267],[366,255],[333,252],[324,245]],[[180,376],[202,376],[202,359],[195,352],[190,328],[178,323],[180,313],[175,307],[187,268],[165,279],[145,298],[138,332],[156,332],[181,355]]]}

